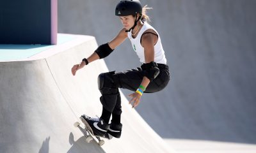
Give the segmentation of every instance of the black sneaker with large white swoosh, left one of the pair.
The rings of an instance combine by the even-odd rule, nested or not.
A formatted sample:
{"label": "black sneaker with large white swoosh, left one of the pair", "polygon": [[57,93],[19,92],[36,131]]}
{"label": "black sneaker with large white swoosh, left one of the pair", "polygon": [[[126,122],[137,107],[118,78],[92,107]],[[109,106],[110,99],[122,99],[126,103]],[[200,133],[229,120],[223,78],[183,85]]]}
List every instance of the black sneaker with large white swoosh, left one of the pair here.
{"label": "black sneaker with large white swoosh, left one of the pair", "polygon": [[[92,118],[92,117],[88,117],[87,115],[82,115],[80,117],[80,119],[82,120],[82,122],[85,125],[88,124],[86,126],[90,126],[90,128],[92,129],[93,135],[95,135],[95,136],[105,136],[106,135],[107,130],[109,128],[109,124],[104,122],[104,120],[102,120],[101,118],[99,118],[99,117]],[[86,122],[84,122],[84,120]]]}

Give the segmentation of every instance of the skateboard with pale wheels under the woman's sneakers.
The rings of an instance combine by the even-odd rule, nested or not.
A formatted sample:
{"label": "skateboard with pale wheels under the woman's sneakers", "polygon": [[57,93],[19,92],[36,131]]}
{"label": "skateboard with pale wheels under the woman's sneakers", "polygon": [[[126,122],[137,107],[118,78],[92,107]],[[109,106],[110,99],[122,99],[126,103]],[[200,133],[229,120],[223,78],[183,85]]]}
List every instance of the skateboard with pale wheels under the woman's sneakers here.
{"label": "skateboard with pale wheels under the woman's sneakers", "polygon": [[[97,142],[99,146],[104,145],[105,141],[102,140],[102,139],[100,138],[100,136],[95,136],[95,135],[93,135],[92,128],[90,127],[90,125],[88,124],[88,122],[86,122],[86,120],[84,120],[83,117],[80,117],[79,119],[83,122],[84,128],[82,128],[80,122],[75,122],[75,123],[74,123],[74,126],[75,126],[76,128],[79,128],[80,131],[84,134],[84,136],[86,137],[86,142],[87,142],[87,143],[90,143],[90,142],[92,142],[93,140],[95,140],[95,138],[97,138],[98,141],[95,140],[95,142]],[[94,138],[94,137],[95,137],[95,138]],[[102,138],[107,138],[108,140],[111,140],[111,138],[113,138],[113,137],[112,137],[112,136],[109,136],[108,134],[106,134],[105,136],[102,136]]]}

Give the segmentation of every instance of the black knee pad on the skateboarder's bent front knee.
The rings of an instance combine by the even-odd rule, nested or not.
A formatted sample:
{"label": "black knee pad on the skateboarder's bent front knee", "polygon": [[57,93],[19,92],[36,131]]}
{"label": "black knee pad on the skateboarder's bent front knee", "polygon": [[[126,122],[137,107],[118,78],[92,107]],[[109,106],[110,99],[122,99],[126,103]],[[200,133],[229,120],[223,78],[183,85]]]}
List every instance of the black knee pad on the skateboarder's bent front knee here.
{"label": "black knee pad on the skateboarder's bent front knee", "polygon": [[113,80],[113,75],[115,71],[108,73],[101,73],[98,77],[98,88],[101,94],[116,94],[118,88]]}

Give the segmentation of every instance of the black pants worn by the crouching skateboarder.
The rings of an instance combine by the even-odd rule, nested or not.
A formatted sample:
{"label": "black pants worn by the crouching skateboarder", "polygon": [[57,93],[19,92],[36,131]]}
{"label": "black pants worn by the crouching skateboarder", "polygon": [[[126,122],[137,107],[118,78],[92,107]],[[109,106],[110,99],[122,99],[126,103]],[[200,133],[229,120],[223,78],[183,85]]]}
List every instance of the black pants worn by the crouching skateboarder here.
{"label": "black pants worn by the crouching skateboarder", "polygon": [[[160,70],[159,75],[148,84],[145,93],[153,93],[161,91],[166,87],[170,80],[169,68],[166,64],[157,64]],[[145,71],[141,68],[129,69],[116,73],[111,71],[99,75],[100,84],[99,89],[102,94],[100,102],[104,109],[115,115],[121,115],[121,97],[118,88],[129,89],[136,91],[140,86]],[[102,79],[103,78],[103,79]],[[101,86],[101,87],[100,87]]]}

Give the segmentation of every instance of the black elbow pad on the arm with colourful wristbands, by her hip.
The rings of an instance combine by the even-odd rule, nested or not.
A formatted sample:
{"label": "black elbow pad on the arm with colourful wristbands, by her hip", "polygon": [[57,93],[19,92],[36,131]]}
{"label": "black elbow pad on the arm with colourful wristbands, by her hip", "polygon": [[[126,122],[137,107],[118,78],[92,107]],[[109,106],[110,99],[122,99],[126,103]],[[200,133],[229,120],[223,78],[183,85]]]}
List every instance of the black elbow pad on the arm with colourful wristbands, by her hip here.
{"label": "black elbow pad on the arm with colourful wristbands, by her hip", "polygon": [[145,71],[144,76],[147,77],[150,80],[150,82],[154,80],[159,75],[160,72],[156,62],[142,64],[141,69]]}

